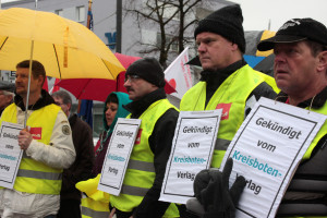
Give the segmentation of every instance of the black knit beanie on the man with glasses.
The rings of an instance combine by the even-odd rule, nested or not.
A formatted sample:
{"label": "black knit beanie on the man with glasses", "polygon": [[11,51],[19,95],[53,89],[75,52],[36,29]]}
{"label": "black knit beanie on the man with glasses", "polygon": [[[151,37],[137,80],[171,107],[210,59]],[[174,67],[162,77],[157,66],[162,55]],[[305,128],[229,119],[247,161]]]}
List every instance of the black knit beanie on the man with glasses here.
{"label": "black knit beanie on the man with glasses", "polygon": [[126,70],[125,77],[128,75],[138,75],[159,88],[166,84],[164,70],[155,58],[144,58],[133,62]]}

